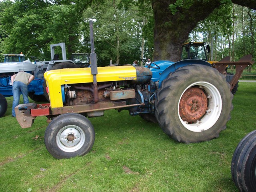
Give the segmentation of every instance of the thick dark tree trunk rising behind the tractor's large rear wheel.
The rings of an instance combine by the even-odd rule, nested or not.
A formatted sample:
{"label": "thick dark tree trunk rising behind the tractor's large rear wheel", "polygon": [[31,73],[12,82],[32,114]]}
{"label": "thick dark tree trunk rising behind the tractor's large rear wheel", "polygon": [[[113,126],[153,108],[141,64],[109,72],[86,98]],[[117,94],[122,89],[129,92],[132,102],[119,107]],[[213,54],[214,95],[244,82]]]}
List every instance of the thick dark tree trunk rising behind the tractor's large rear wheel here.
{"label": "thick dark tree trunk rising behind the tractor's large rear wheel", "polygon": [[[188,39],[196,24],[205,19],[215,8],[220,6],[221,0],[191,0],[191,6],[177,6],[177,12],[172,14],[170,4],[176,0],[153,0],[154,11],[154,54],[153,59],[179,61],[181,46]],[[255,5],[252,0],[232,0],[236,4],[244,2]]]}

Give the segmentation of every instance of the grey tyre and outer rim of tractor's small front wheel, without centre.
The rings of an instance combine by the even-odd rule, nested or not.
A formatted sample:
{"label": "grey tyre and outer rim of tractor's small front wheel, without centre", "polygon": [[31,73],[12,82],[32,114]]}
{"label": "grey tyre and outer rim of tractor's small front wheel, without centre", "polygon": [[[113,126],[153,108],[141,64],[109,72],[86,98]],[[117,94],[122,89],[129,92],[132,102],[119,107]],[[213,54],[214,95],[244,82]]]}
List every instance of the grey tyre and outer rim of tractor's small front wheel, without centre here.
{"label": "grey tyre and outer rim of tractor's small front wheel, without centre", "polygon": [[[60,139],[57,136],[60,135],[60,130],[66,126],[78,127],[80,134],[85,136],[84,144],[75,151],[67,152],[63,150],[64,148],[58,146],[60,145]],[[57,159],[71,158],[87,154],[91,150],[94,140],[94,128],[91,122],[81,114],[62,114],[57,116],[46,128],[44,136],[46,149]],[[82,138],[80,142],[82,142]]]}

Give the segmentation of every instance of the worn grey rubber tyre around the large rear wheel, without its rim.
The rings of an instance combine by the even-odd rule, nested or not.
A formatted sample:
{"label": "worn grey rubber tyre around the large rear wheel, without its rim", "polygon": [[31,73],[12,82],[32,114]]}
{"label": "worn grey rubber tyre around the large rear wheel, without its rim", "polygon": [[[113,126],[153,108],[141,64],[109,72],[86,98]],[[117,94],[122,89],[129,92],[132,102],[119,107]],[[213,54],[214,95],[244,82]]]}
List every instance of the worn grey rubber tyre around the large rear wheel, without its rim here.
{"label": "worn grey rubber tyre around the large rear wheel, without its rim", "polygon": [[[189,69],[186,71],[180,68],[180,71],[178,73],[174,72],[173,74],[170,74],[169,77],[162,82],[161,88],[160,90],[158,90],[161,91],[162,89],[166,93],[165,98],[161,98],[166,101],[166,103],[162,105],[164,109],[162,112],[158,111],[156,113],[158,122],[166,134],[168,134],[175,140],[178,140],[179,142],[201,142],[205,140],[210,140],[214,137],[218,137],[218,133],[226,128],[226,122],[230,119],[230,109],[232,108],[231,93],[229,91],[228,84],[226,84],[226,80],[224,79],[224,77],[222,77],[221,74],[218,73],[218,71],[214,71],[215,69],[211,67],[199,67],[201,69],[204,68],[204,70],[200,70],[199,68],[198,70],[193,71],[192,66],[185,66],[185,68]],[[179,77],[178,80],[174,82],[175,85],[171,86],[170,91],[165,91],[164,89],[166,89],[166,87],[168,89],[169,86],[167,84],[172,83],[172,81],[168,79],[177,79],[177,75],[179,75]],[[178,105],[182,93],[187,88],[189,88],[190,85],[196,82],[207,82],[210,83],[212,86],[216,87],[216,89],[220,93],[222,100],[222,109],[220,112],[220,116],[212,127],[201,132],[194,132],[188,130],[182,124],[182,120],[180,119],[180,115],[178,113]],[[163,118],[160,117],[162,115],[161,113],[165,114]]]}

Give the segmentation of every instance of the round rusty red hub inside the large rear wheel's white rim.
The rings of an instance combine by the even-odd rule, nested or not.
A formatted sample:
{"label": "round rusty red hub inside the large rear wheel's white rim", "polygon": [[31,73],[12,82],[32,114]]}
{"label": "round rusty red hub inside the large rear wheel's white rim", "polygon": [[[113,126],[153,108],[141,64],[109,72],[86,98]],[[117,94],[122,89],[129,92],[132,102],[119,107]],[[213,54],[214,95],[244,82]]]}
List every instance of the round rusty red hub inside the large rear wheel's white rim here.
{"label": "round rusty red hub inside the large rear wheel's white rim", "polygon": [[196,122],[207,110],[207,97],[202,89],[187,89],[180,99],[179,114],[183,121]]}

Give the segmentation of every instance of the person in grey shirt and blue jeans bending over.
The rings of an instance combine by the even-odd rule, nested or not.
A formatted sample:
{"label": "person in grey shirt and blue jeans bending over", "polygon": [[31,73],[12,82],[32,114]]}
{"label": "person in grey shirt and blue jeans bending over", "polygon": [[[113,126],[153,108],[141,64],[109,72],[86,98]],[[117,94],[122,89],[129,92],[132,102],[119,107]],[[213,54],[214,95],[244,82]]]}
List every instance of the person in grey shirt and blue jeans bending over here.
{"label": "person in grey shirt and blue jeans bending over", "polygon": [[34,75],[20,71],[17,74],[11,76],[12,81],[12,117],[16,117],[14,108],[18,106],[20,102],[20,94],[23,96],[23,103],[29,103],[28,100],[28,84],[34,79]]}

